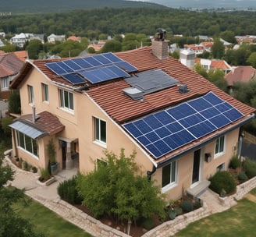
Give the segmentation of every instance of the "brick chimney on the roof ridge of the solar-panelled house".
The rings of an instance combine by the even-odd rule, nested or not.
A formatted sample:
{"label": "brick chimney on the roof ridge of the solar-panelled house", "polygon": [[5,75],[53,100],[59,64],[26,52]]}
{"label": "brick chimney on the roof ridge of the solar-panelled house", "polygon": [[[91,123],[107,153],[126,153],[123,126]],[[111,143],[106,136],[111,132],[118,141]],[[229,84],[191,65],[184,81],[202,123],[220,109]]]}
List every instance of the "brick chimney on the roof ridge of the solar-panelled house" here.
{"label": "brick chimney on the roof ridge of the solar-panelled house", "polygon": [[168,58],[169,41],[165,41],[166,31],[159,29],[152,40],[152,53],[159,59]]}

